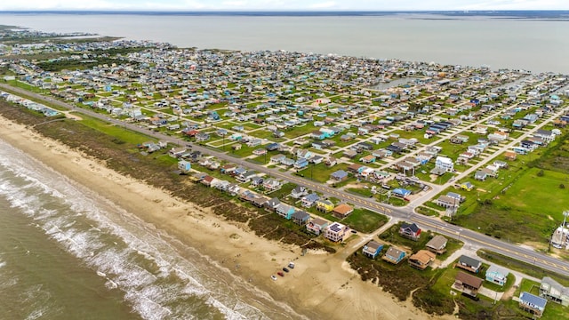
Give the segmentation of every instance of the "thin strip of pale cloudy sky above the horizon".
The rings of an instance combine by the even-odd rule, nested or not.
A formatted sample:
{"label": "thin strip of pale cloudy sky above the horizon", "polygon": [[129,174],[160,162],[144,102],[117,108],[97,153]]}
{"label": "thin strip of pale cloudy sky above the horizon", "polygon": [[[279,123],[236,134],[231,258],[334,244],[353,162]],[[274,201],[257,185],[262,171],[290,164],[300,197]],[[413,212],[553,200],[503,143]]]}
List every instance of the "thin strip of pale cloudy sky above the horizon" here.
{"label": "thin strip of pale cloudy sky above the horizon", "polygon": [[567,0],[23,0],[4,10],[569,10]]}

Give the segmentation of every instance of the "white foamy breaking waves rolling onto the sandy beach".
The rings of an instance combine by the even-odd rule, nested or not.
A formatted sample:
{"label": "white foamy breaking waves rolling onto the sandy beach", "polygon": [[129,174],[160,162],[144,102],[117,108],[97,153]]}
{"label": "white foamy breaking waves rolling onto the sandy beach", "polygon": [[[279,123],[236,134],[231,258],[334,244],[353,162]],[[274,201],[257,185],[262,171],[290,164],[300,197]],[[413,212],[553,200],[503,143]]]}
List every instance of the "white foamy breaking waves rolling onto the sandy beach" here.
{"label": "white foamy breaking waves rolling onto the sandy beach", "polygon": [[154,226],[19,152],[0,141],[0,169],[16,177],[0,174],[0,194],[93,272],[104,274],[108,289],[124,292],[140,316],[193,318],[205,309],[228,319],[266,317],[181,257]]}

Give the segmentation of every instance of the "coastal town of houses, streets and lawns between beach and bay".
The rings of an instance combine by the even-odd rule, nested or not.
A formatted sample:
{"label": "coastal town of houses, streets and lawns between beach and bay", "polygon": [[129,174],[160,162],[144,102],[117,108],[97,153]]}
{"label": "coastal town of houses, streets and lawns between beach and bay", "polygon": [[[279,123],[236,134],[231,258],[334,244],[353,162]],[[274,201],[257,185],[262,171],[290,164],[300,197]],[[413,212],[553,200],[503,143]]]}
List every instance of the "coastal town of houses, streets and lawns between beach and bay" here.
{"label": "coastal town of houses, streets and lawns between beach and bay", "polygon": [[[567,76],[2,31],[4,100],[142,132],[136,153],[278,217],[318,244],[302,255],[431,314],[568,312]],[[382,282],[396,274],[418,280]]]}

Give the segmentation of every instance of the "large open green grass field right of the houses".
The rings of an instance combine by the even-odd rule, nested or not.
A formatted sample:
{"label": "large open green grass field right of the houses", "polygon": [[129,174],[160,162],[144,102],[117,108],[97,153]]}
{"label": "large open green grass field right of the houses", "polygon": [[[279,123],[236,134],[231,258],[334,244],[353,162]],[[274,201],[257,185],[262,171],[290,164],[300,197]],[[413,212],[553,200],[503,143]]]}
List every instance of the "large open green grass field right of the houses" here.
{"label": "large open green grass field right of the houses", "polygon": [[553,229],[563,220],[563,208],[569,208],[569,189],[559,188],[569,175],[544,171],[539,176],[539,172],[537,168],[510,167],[498,180],[473,181],[477,190],[451,189],[467,196],[456,223],[495,237],[545,246]]}

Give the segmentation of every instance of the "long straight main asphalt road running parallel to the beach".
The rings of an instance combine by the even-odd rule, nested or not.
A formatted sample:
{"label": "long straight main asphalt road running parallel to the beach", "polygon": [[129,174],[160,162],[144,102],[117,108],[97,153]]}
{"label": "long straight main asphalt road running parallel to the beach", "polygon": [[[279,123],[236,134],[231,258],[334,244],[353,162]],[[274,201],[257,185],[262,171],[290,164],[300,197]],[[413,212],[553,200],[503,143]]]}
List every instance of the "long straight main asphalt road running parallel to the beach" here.
{"label": "long straight main asphalt road running parallel to the beach", "polygon": [[[84,108],[76,108],[72,105],[61,102],[60,100],[54,100],[52,98],[44,97],[40,94],[34,92],[28,92],[18,87],[12,87],[7,84],[0,84],[0,88],[6,88],[14,92],[20,92],[23,95],[33,97],[34,100],[38,102],[44,101],[47,103],[52,103],[54,105],[60,106],[61,108],[72,109],[75,110],[77,113],[99,118],[100,120],[116,124],[118,126],[124,127],[134,132],[141,132],[147,134],[148,136],[154,137],[157,140],[164,140],[169,143],[177,144],[180,146],[188,145],[188,141],[186,140],[170,137],[159,132],[153,132],[146,128],[141,128],[136,124],[126,124],[119,120],[93,112],[92,110]],[[357,206],[360,206],[362,208],[366,208],[374,212],[381,212],[397,220],[415,222],[417,225],[420,226],[420,228],[434,230],[442,235],[458,239],[467,245],[501,253],[502,255],[514,258],[516,260],[524,261],[530,265],[534,265],[539,268],[556,272],[560,275],[569,276],[569,262],[567,261],[559,260],[544,253],[535,252],[533,249],[521,247],[517,244],[511,244],[509,242],[494,238],[492,236],[485,236],[484,234],[480,234],[478,232],[469,229],[464,229],[459,226],[445,223],[444,221],[441,220],[437,220],[421,214],[415,214],[413,212],[413,208],[410,206],[407,206],[405,208],[399,208],[399,207],[390,206],[388,204],[378,204],[376,201],[373,201],[369,198],[365,198],[363,196],[351,195],[349,193],[328,187],[321,183],[313,182],[306,178],[298,177],[296,175],[293,175],[291,172],[279,172],[278,170],[269,169],[260,164],[252,164],[250,162],[244,161],[241,158],[236,158],[234,156],[230,156],[226,153],[215,151],[210,148],[204,148],[202,146],[192,144],[192,149],[201,151],[204,154],[216,156],[219,159],[227,160],[232,163],[242,164],[245,167],[248,167],[257,172],[266,173],[277,179],[288,180],[295,184],[304,185],[308,188],[323,193],[327,196],[334,196],[341,200],[348,201],[349,203],[356,204]],[[306,169],[305,172],[309,172],[309,170],[310,168]]]}

